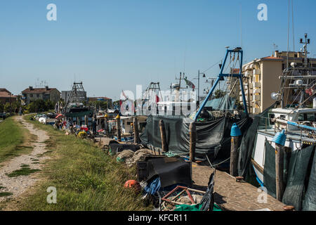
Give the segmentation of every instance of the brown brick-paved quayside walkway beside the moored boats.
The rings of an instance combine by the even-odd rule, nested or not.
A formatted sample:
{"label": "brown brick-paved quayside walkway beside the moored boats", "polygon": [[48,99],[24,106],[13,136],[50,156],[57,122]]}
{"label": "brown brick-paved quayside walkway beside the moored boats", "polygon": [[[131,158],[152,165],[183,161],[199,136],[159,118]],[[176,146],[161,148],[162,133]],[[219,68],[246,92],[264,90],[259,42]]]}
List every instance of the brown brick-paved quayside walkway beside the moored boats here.
{"label": "brown brick-paved quayside walkway beside the moored boats", "polygon": [[[209,176],[213,172],[208,166],[200,166],[192,163],[192,177],[196,189],[206,190]],[[254,211],[269,209],[271,211],[283,211],[284,204],[267,196],[266,203],[258,203],[258,188],[246,182],[236,182],[235,177],[226,172],[216,170],[215,177],[215,203],[224,210],[230,211]]]}

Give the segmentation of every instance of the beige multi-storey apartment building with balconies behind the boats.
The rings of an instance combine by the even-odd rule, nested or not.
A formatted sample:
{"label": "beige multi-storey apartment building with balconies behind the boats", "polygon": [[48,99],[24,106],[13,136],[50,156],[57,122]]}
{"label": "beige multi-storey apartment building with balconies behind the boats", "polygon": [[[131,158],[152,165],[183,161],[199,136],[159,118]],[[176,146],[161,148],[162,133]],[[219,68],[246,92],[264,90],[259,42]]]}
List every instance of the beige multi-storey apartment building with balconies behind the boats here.
{"label": "beige multi-storey apartment building with balconies behind the boats", "polygon": [[[296,63],[297,67],[303,66],[303,53],[290,51],[287,57],[287,51],[275,51],[272,56],[256,58],[242,66],[249,113],[262,113],[265,108],[275,102],[271,98],[271,94],[279,91],[281,83],[279,77],[287,68],[287,63],[289,65]],[[308,63],[312,67],[312,75],[316,75],[316,58],[309,58]],[[287,98],[289,98],[288,102],[291,102],[296,96],[290,92]],[[241,93],[239,93],[239,101],[242,102]]]}

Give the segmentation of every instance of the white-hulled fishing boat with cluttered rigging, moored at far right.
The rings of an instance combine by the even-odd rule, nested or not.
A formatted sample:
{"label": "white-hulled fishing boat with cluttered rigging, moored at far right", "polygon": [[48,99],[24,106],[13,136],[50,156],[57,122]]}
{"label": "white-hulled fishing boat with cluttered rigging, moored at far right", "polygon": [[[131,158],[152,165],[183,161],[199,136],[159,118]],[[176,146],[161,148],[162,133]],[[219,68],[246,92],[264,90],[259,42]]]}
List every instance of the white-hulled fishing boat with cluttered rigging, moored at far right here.
{"label": "white-hulled fishing boat with cluttered rigging, moored at far right", "polygon": [[[251,167],[254,169],[258,185],[268,187],[268,193],[276,196],[277,162],[273,161],[273,149],[280,144],[278,137],[283,136],[281,145],[284,146],[284,195],[279,200],[296,205],[296,210],[303,208],[303,190],[316,188],[315,184],[309,182],[312,176],[310,174],[315,170],[312,168],[312,165],[315,167],[312,160],[316,143],[316,68],[308,63],[307,46],[310,41],[307,34],[305,43],[302,40],[301,43],[304,44],[302,65],[287,63],[287,68],[279,76],[279,91],[271,94],[275,103],[255,119],[257,123],[253,126],[257,127],[251,153]],[[289,93],[295,94],[294,97],[289,98]],[[301,176],[301,181],[298,181],[298,176]],[[293,183],[294,180],[296,184]],[[297,198],[296,193],[299,193]],[[315,199],[313,201],[315,204]]]}

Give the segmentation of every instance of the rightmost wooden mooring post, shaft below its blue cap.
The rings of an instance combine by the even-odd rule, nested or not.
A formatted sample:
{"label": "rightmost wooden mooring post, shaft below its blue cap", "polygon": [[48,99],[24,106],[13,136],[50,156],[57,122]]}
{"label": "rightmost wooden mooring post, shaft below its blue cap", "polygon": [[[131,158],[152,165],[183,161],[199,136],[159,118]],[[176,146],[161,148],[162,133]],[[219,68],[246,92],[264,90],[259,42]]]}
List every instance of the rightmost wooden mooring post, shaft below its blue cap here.
{"label": "rightmost wooden mooring post, shaft below its blue cap", "polygon": [[284,169],[284,146],[275,143],[275,182],[277,191],[277,200],[282,201],[283,186],[283,169]]}

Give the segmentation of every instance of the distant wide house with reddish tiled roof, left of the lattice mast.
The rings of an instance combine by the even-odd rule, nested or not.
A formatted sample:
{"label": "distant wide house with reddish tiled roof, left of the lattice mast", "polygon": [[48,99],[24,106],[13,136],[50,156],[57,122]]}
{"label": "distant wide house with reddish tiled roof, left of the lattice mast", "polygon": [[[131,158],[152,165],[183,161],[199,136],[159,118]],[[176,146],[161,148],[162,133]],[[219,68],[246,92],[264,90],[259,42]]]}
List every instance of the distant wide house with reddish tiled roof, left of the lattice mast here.
{"label": "distant wide house with reddish tiled roof, left of the lattice mast", "polygon": [[45,86],[45,88],[33,88],[29,86],[28,89],[22,91],[22,101],[29,104],[31,101],[42,99],[44,101],[50,100],[53,103],[60,101],[60,91],[55,88]]}

